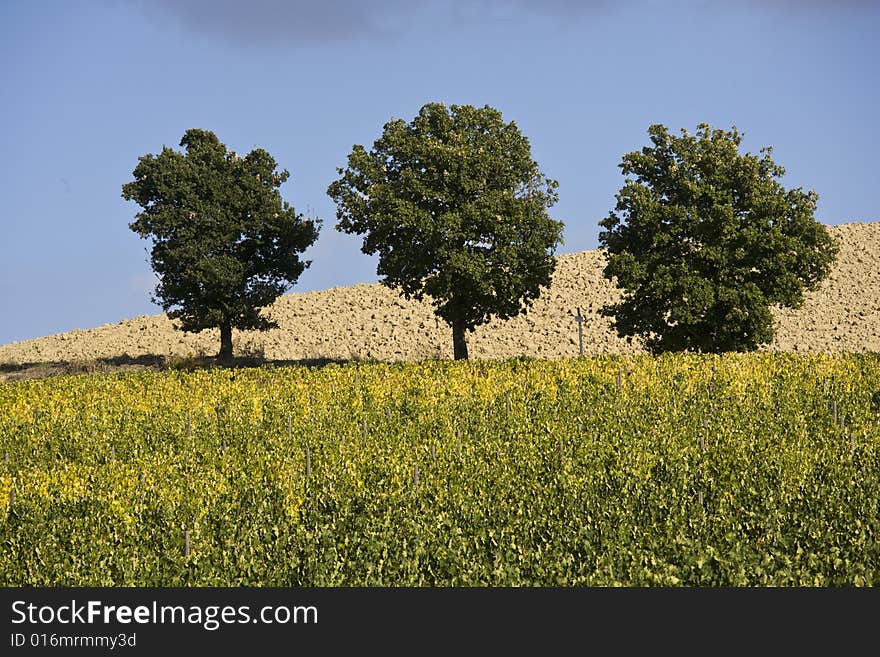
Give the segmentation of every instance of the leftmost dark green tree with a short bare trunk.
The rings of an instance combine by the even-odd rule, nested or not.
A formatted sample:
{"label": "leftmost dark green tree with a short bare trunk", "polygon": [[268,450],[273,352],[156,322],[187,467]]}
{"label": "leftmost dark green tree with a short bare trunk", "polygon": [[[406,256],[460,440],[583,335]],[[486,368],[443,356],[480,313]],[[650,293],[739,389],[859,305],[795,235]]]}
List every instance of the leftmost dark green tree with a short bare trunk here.
{"label": "leftmost dark green tree with a short bare trunk", "polygon": [[289,173],[269,153],[239,157],[207,130],[187,130],[179,153],[163,147],[139,158],[122,197],[143,208],[129,227],[151,237],[159,276],[153,301],[186,332],[220,329],[222,361],[232,358],[232,329],[267,330],[260,309],[299,278],[299,254],[318,237],[281,199]]}

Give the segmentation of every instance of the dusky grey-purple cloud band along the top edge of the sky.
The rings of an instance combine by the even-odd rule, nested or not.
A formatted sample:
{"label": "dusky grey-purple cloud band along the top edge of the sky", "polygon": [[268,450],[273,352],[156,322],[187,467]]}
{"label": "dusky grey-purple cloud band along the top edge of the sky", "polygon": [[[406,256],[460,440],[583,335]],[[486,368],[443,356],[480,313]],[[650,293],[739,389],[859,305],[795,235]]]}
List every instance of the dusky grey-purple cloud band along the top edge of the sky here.
{"label": "dusky grey-purple cloud band along the top edge of the sky", "polygon": [[512,22],[580,24],[618,9],[749,8],[790,14],[880,7],[878,0],[105,0],[146,18],[242,46],[297,46],[394,39],[416,29],[474,29]]}

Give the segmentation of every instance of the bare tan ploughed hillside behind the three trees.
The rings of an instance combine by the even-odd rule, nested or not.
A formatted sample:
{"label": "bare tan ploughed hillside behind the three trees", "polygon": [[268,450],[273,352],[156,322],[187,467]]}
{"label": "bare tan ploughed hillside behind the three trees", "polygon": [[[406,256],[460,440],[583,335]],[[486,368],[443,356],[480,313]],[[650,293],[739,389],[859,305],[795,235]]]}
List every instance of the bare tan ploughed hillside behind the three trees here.
{"label": "bare tan ploughed hillside behind the three trees", "polygon": [[[831,276],[796,311],[775,312],[776,340],[767,348],[798,352],[880,351],[880,222],[829,228],[840,241]],[[528,314],[491,322],[469,336],[472,358],[519,355],[559,358],[578,353],[573,311],[580,306],[584,352],[640,351],[616,336],[599,308],[617,297],[602,277],[600,251],[562,255],[549,290]],[[237,355],[270,360],[451,358],[451,331],[428,303],[408,302],[380,284],[287,294],[271,307],[279,328],[235,332]],[[211,355],[217,331],[175,331],[165,315],[141,316],[0,347],[7,371],[31,363],[150,356]]]}

